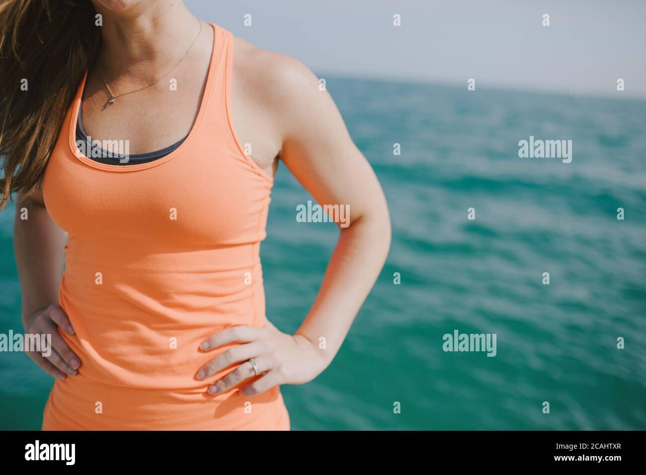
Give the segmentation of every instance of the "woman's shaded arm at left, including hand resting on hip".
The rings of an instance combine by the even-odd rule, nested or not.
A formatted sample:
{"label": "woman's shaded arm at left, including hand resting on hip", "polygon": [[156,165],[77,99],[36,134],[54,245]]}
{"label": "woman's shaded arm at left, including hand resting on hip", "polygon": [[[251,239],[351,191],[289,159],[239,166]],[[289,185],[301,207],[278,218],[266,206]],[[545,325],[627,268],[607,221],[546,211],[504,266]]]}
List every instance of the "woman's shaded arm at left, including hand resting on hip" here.
{"label": "woman's shaded arm at left, including hand resting on hip", "polygon": [[25,332],[52,335],[51,353],[26,352],[48,374],[65,379],[76,375],[81,359],[70,350],[57,327],[70,334],[74,329],[58,305],[58,289],[63,275],[65,231],[56,225],[45,209],[43,194],[19,195],[14,222],[14,251],[22,294],[22,320]]}

